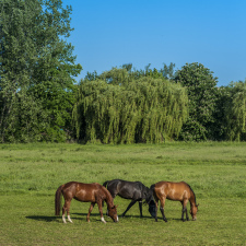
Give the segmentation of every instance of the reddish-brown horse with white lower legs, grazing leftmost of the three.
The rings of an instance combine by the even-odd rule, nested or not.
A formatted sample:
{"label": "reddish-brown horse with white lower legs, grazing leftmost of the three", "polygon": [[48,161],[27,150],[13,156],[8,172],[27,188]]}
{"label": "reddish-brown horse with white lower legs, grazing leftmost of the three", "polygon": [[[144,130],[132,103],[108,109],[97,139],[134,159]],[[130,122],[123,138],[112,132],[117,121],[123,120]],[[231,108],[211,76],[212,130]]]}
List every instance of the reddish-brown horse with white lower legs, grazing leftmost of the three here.
{"label": "reddish-brown horse with white lower legs, grazing leftmost of the three", "polygon": [[78,201],[91,202],[91,207],[89,209],[89,213],[86,216],[87,222],[90,222],[90,214],[95,203],[97,203],[101,213],[101,220],[102,222],[106,223],[103,216],[103,209],[102,209],[102,203],[104,200],[107,203],[108,216],[110,216],[114,222],[118,222],[118,215],[116,210],[117,207],[114,206],[113,198],[109,191],[102,185],[97,183],[83,184],[78,181],[70,181],[65,185],[61,185],[56,191],[56,199],[55,199],[56,215],[60,215],[61,194],[63,195],[65,198],[65,206],[62,208],[63,223],[67,223],[65,216],[66,211],[68,215],[68,221],[72,223],[70,219],[69,209],[71,200],[73,198]]}

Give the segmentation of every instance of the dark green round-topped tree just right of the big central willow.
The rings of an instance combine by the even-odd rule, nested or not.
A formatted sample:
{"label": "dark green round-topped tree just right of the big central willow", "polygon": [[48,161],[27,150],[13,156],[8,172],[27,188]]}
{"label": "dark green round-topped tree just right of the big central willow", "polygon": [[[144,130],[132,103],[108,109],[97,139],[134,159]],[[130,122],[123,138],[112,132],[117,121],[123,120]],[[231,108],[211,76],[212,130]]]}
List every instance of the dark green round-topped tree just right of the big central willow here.
{"label": "dark green round-topped tree just right of the big central willow", "polygon": [[218,87],[213,72],[201,63],[187,63],[177,71],[175,81],[187,89],[189,117],[180,132],[183,140],[207,140],[213,137]]}

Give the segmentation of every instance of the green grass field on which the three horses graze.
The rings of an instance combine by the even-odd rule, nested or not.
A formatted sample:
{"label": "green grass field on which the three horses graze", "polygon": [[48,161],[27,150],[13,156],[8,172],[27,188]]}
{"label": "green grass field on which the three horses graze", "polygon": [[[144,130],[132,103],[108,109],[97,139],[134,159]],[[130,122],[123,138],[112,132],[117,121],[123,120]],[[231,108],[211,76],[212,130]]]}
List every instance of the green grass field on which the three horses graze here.
{"label": "green grass field on which the three horses graze", "polygon": [[[166,201],[165,223],[134,204],[114,223],[99,220],[95,206],[71,203],[73,224],[55,216],[61,184],[103,184],[121,178],[150,186],[160,180],[187,181],[199,210],[197,221],[181,222],[181,206]],[[120,215],[129,200],[115,199]],[[189,207],[188,207],[189,208]],[[1,144],[0,245],[246,245],[246,143],[132,145]],[[104,213],[106,207],[104,208]]]}

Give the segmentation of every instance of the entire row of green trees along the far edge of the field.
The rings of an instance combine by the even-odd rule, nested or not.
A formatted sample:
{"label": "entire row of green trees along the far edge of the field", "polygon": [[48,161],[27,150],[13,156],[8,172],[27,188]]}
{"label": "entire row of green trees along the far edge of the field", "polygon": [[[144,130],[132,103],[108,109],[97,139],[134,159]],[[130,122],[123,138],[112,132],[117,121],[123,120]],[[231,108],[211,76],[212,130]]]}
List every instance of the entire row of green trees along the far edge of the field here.
{"label": "entire row of green trees along the far edge of the field", "polygon": [[129,63],[77,84],[71,8],[2,0],[0,11],[0,142],[246,140],[246,81],[219,87],[200,63]]}

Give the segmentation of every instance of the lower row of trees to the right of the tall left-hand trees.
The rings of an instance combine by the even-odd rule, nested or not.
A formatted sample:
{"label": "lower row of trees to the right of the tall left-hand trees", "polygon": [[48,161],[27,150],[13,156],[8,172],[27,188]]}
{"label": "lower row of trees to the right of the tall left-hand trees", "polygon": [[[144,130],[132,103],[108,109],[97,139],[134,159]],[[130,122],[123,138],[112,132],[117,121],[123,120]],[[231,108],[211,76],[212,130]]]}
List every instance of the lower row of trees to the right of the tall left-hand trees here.
{"label": "lower row of trees to the right of the tall left-hand trees", "polygon": [[132,65],[81,81],[73,108],[77,139],[108,143],[245,141],[246,82],[216,86],[200,63],[180,70]]}

